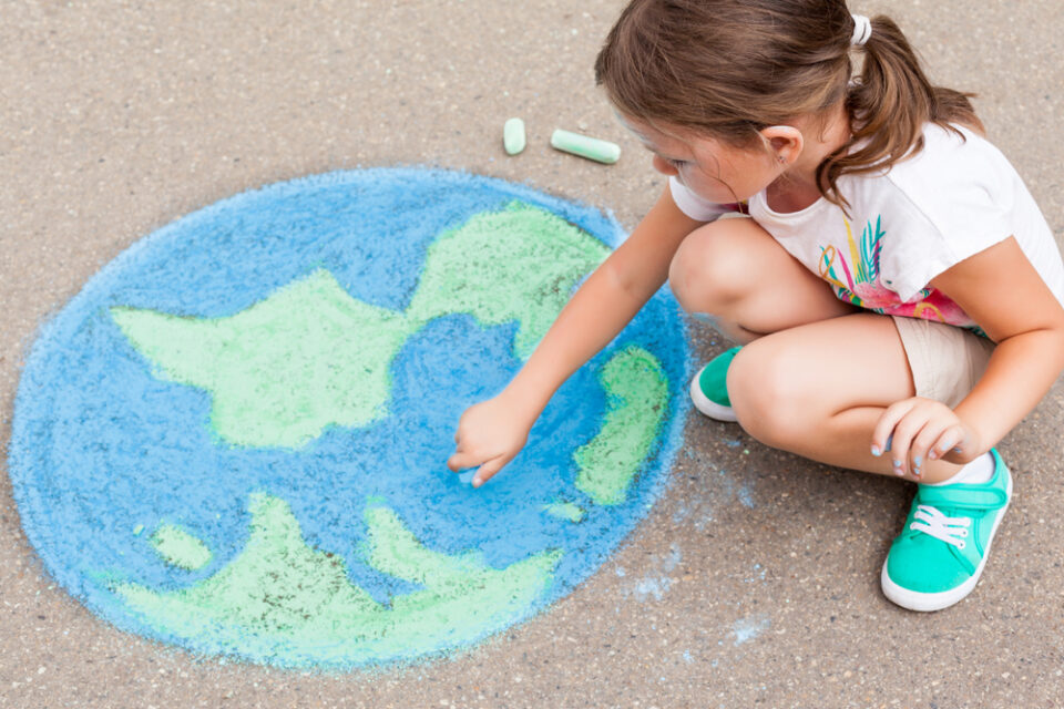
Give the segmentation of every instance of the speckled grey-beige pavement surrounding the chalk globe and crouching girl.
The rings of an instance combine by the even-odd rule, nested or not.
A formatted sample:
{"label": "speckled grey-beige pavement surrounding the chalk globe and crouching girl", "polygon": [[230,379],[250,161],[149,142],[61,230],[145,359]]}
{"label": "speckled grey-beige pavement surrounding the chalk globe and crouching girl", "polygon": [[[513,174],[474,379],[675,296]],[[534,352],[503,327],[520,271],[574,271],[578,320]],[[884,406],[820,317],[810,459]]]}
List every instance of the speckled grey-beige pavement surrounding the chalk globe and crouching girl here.
{"label": "speckled grey-beige pavement surrounding the chalk globe and crouching girl", "polygon": [[[42,319],[137,238],[246,188],[439,165],[607,207],[633,226],[662,178],[592,79],[621,7],[4,2],[0,444]],[[1060,2],[853,9],[896,17],[934,80],[981,94],[991,136],[1060,240]],[[501,150],[512,115],[530,129],[513,158]],[[554,127],[615,140],[622,160],[552,152]],[[702,354],[716,351],[710,332],[694,332]],[[879,590],[904,483],[692,418],[667,493],[597,574],[453,659],[382,675],[222,665],[115,630],[43,574],[0,475],[0,706],[1064,706],[1062,403],[1058,382],[1002,444],[1016,496],[980,586],[947,612],[911,614]]]}

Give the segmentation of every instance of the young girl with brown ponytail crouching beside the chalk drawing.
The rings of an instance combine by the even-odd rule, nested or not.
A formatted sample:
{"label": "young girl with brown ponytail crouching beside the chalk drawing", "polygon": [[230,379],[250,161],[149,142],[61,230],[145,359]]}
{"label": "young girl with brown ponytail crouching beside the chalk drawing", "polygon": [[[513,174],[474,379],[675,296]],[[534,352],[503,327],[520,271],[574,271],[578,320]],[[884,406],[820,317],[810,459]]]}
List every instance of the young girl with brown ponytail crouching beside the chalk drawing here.
{"label": "young girl with brown ponytail crouching beside the chalk drawing", "polygon": [[741,346],[695,377],[696,407],[920,483],[883,590],[915,610],[963,598],[1012,494],[992,446],[1064,369],[1060,251],[968,95],[845,0],[634,0],[595,73],[668,186],[513,381],[462,414],[448,465],[479,466],[477,486],[499,472],[667,278]]}

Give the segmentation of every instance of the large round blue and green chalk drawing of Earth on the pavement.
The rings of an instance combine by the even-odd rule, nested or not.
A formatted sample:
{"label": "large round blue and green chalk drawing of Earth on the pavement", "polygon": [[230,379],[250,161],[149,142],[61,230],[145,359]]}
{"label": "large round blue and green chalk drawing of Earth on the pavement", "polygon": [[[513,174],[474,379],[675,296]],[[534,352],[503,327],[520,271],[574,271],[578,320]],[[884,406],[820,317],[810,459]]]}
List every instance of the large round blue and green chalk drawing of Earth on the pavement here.
{"label": "large round blue and green chalk drawing of Earth on the pavement", "polygon": [[45,323],[9,471],[45,568],[125,630],[293,668],[406,662],[546,609],[646,514],[685,329],[663,290],[479,490],[458,418],[622,238],[444,171],[330,173],[152,234]]}

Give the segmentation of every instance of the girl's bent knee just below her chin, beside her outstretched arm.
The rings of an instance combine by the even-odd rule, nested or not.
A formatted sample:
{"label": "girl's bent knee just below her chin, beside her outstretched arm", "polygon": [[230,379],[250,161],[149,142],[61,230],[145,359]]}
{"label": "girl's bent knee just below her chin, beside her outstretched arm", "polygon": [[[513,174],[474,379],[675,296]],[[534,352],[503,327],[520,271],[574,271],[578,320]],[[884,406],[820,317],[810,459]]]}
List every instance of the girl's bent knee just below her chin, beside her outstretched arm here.
{"label": "girl's bent knee just below her chin, beside her outstretched arm", "polygon": [[[754,287],[740,232],[749,219],[703,225],[683,240],[668,268],[668,284],[688,312],[720,315]],[[756,226],[756,225],[755,225]],[[760,227],[757,227],[760,228]]]}

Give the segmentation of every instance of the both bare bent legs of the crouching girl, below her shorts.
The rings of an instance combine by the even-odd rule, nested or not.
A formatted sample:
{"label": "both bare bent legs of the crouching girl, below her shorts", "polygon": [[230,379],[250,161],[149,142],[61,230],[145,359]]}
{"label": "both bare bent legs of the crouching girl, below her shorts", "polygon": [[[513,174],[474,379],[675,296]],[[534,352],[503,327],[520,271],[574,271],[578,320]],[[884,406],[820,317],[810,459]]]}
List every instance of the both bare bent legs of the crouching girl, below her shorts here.
{"label": "both bare bent legs of the crouching girl, below her shorts", "polygon": [[[914,395],[891,318],[838,300],[753,219],[693,232],[669,284],[684,309],[747,345],[728,370],[728,394],[750,435],[831,465],[894,474],[889,453],[871,454],[883,410]],[[959,469],[927,461],[921,482]]]}

